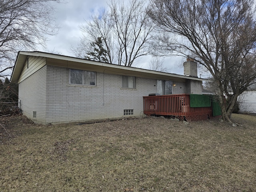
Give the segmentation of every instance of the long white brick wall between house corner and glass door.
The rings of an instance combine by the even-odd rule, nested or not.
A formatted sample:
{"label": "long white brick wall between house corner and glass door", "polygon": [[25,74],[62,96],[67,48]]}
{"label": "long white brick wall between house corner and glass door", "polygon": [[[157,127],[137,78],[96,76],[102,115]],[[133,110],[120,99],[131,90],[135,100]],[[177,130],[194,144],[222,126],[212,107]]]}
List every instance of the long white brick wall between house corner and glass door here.
{"label": "long white brick wall between house corner and glass door", "polygon": [[69,69],[47,66],[46,123],[85,121],[143,114],[143,98],[156,92],[156,80],[136,78],[136,89],[122,88],[122,76],[96,73],[96,86],[69,84]]}

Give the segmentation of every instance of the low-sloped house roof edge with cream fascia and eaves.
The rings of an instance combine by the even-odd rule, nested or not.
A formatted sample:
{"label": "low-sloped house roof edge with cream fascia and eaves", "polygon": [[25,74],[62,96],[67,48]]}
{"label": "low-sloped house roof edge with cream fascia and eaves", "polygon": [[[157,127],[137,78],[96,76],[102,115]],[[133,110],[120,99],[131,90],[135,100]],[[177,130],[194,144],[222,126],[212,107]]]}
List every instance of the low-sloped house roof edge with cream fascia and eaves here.
{"label": "low-sloped house roof edge with cream fascia and eaves", "polygon": [[188,80],[200,80],[209,81],[208,79],[184,76],[166,72],[158,72],[147,69],[120,66],[116,64],[109,64],[104,62],[96,62],[91,60],[85,60],[81,58],[75,58],[70,56],[63,56],[58,54],[46,53],[46,52],[18,52],[16,62],[14,65],[14,70],[12,71],[11,82],[16,83],[22,72],[22,68],[25,64],[26,58],[28,56],[38,56],[46,58],[46,64],[52,66],[62,66],[67,68],[75,68],[81,70],[92,70],[96,72],[110,73],[110,74],[120,74],[127,76],[138,76],[144,78],[154,78],[160,80],[173,80],[177,82],[185,82]]}

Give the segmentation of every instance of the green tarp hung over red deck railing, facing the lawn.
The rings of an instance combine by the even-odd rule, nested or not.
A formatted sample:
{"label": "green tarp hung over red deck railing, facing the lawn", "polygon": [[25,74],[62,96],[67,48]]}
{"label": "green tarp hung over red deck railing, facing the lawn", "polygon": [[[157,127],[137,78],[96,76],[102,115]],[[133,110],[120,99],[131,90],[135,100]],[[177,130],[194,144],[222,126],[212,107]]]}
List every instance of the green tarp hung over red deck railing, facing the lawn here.
{"label": "green tarp hung over red deck railing, facing the lawn", "polygon": [[210,107],[211,98],[209,95],[190,94],[190,107]]}

